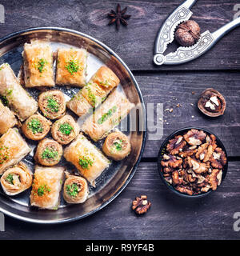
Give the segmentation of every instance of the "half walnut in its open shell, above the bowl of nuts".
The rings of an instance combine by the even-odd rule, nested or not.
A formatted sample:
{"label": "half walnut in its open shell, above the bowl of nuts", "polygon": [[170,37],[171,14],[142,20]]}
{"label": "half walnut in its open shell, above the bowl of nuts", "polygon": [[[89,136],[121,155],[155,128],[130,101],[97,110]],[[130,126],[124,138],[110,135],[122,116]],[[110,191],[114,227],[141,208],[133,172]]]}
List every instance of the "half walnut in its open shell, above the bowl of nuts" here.
{"label": "half walnut in its open shell, above the bowl of nuts", "polygon": [[203,114],[206,114],[209,117],[218,117],[224,114],[224,111],[226,110],[226,101],[218,90],[208,88],[200,95],[198,108]]}

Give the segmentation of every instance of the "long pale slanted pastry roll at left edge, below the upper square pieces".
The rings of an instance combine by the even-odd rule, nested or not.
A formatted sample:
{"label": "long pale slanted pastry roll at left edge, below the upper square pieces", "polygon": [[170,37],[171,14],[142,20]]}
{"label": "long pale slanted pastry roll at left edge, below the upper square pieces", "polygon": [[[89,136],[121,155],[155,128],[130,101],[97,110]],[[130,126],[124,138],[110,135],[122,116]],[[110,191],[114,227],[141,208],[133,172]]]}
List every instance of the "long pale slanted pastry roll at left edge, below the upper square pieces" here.
{"label": "long pale slanted pastry roll at left edge, below the upper square pieces", "polygon": [[38,102],[22,88],[9,64],[0,66],[0,94],[21,121],[38,110]]}

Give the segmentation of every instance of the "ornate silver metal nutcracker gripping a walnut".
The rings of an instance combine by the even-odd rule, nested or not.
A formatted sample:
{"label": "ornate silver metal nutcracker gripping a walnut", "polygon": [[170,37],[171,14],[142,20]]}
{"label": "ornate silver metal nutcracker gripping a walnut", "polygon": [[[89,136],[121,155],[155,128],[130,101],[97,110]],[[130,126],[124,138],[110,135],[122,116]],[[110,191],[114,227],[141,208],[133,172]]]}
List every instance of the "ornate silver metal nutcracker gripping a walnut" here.
{"label": "ornate silver metal nutcracker gripping a walnut", "polygon": [[240,17],[234,19],[232,22],[227,23],[220,29],[213,33],[206,30],[201,34],[198,42],[194,46],[185,47],[181,46],[174,53],[163,55],[166,51],[167,45],[174,41],[174,32],[177,26],[186,22],[192,16],[190,8],[194,6],[197,0],[186,0],[181,6],[178,6],[176,10],[163,23],[161,29],[158,32],[154,47],[154,63],[158,66],[165,65],[177,65],[185,62],[190,62],[195,58],[198,58],[202,54],[205,54],[207,50],[210,50],[212,46],[230,30],[233,30],[236,26],[240,25]]}

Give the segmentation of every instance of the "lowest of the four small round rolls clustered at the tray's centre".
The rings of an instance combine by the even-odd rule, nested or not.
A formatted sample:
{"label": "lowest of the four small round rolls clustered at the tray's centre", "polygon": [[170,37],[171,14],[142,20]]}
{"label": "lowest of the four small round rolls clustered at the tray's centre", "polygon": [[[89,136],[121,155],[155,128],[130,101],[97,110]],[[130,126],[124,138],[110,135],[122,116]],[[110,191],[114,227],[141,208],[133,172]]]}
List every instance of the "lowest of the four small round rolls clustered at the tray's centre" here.
{"label": "lowest of the four small round rolls clustered at the tray's centre", "polygon": [[34,160],[42,166],[55,166],[62,157],[62,145],[53,139],[44,138],[38,143]]}

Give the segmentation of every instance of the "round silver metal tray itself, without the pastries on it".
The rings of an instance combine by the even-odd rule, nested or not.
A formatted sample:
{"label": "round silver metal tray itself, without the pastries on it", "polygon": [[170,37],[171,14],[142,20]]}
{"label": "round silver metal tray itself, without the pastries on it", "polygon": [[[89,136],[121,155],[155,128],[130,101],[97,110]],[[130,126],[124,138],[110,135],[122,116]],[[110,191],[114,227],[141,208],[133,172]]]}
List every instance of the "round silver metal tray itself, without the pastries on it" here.
{"label": "round silver metal tray itself, without the pastries on it", "polygon": [[[3,214],[25,222],[44,224],[71,222],[101,210],[114,200],[124,190],[130,179],[133,178],[146,141],[146,131],[144,129],[146,127],[146,110],[138,83],[122,59],[102,42],[75,30],[58,27],[38,27],[10,34],[0,39],[0,64],[8,62],[17,75],[22,65],[23,44],[30,42],[31,39],[47,39],[53,50],[57,50],[58,46],[85,48],[89,52],[87,78],[90,78],[99,66],[109,66],[120,78],[119,89],[124,91],[130,102],[134,102],[138,106],[135,118],[137,129],[124,132],[130,138],[132,146],[130,155],[121,162],[113,161],[111,163],[110,167],[97,179],[96,188],[90,186],[90,195],[86,202],[78,205],[68,205],[61,199],[58,210],[38,210],[30,206],[29,196],[31,189],[14,197],[9,197],[0,188],[0,211]],[[66,94],[66,98],[70,98],[79,90],[78,88],[69,88],[67,86],[57,86],[57,88]],[[34,98],[38,98],[39,90],[30,89],[28,91]],[[71,114],[74,116],[73,113]],[[139,126],[139,123],[141,126]],[[37,143],[30,140],[26,141],[32,146],[33,150],[23,161],[34,170],[33,156]],[[97,142],[95,145],[101,149],[102,142]],[[67,170],[74,170],[74,166],[71,166],[63,158],[59,165],[66,166]]]}

